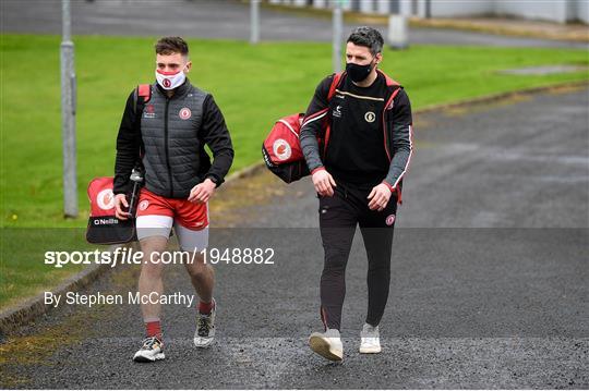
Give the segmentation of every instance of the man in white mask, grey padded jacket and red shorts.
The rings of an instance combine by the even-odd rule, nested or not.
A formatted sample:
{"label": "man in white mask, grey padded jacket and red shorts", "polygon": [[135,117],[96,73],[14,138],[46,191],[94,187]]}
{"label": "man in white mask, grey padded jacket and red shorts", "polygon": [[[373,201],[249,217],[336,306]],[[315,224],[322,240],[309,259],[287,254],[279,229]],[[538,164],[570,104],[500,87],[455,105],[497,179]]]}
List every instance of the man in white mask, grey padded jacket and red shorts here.
{"label": "man in white mask, grey padded jacket and red shorts", "polygon": [[[144,258],[139,293],[163,295],[159,255],[166,251],[173,227],[181,251],[199,252],[194,261],[184,266],[200,297],[194,344],[205,347],[215,335],[215,277],[200,252],[208,245],[207,203],[231,167],[233,149],[213,96],[187,78],[192,66],[187,42],[180,37],[165,37],[157,41],[155,51],[156,82],[144,86],[143,94],[140,87],[129,96],[117,137],[117,218],[129,217],[125,194],[131,171],[141,161],[145,185],[136,208],[136,229]],[[137,101],[145,93],[148,100],[140,111]],[[205,145],[213,151],[213,163]],[[142,302],[141,310],[146,338],[133,359],[164,359],[160,304]]]}

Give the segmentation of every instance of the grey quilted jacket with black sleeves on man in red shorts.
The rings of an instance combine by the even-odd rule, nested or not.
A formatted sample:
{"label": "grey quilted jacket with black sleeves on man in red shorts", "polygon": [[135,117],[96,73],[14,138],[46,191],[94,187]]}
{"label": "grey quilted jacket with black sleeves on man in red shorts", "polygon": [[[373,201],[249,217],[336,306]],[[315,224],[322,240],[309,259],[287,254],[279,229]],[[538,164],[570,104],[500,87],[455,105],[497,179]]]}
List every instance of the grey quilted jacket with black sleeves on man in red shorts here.
{"label": "grey quilted jacket with black sleeves on man in red shorts", "polygon": [[[187,81],[168,98],[155,83],[140,125],[134,94],[127,101],[117,137],[115,194],[129,191],[129,175],[142,149],[145,187],[157,195],[187,198],[207,176],[220,185],[231,167],[233,148],[213,96]],[[213,151],[213,163],[205,145]]]}

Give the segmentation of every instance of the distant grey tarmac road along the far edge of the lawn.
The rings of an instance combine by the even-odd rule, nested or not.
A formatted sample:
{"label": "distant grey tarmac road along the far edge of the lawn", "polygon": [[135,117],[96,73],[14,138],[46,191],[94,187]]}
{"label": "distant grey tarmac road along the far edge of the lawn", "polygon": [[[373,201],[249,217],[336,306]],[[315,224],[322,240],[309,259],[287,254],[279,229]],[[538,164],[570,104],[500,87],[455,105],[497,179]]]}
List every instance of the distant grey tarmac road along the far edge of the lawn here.
{"label": "distant grey tarmac road along the far edge of the lawn", "polygon": [[[2,0],[2,33],[61,34],[60,0]],[[250,13],[236,0],[72,1],[72,33],[249,39]],[[354,25],[346,25],[345,33]],[[381,27],[383,34],[386,28]],[[386,35],[385,35],[386,36]],[[262,40],[332,41],[329,20],[262,9]],[[410,44],[588,49],[584,42],[506,37],[445,28],[411,28]]]}

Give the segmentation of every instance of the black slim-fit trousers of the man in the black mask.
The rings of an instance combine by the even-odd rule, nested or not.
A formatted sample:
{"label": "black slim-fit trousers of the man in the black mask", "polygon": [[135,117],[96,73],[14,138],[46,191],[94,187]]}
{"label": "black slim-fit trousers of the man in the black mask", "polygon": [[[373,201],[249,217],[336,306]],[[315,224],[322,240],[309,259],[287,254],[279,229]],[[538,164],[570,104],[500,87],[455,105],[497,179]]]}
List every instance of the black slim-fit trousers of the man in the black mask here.
{"label": "black slim-fit trousers of the man in the black mask", "polygon": [[321,276],[321,317],[326,329],[339,330],[346,295],[346,265],[356,225],[359,224],[369,264],[366,323],[377,326],[388,298],[397,199],[392,195],[386,208],[375,211],[368,207],[370,190],[338,183],[334,191],[333,197],[320,197],[320,228],[325,249]]}

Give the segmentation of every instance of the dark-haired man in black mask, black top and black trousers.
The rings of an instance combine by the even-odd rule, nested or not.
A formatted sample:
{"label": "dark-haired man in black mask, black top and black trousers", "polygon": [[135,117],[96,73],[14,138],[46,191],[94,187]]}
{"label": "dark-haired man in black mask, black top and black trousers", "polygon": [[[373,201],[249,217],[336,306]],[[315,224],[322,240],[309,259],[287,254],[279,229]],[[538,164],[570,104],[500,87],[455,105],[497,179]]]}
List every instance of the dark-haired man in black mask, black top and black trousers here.
{"label": "dark-haired man in black mask, black top and black trousers", "polygon": [[[324,332],[311,349],[332,361],[344,357],[339,335],[346,265],[357,224],[368,255],[369,303],[360,353],[380,353],[378,323],[388,297],[393,229],[401,181],[412,152],[412,119],[402,87],[377,69],[383,37],[371,27],[347,40],[346,72],[324,78],[306,110],[300,142],[320,198],[325,251],[321,276]],[[336,81],[335,94],[329,89]],[[317,143],[322,136],[324,145]]]}

